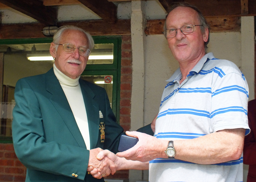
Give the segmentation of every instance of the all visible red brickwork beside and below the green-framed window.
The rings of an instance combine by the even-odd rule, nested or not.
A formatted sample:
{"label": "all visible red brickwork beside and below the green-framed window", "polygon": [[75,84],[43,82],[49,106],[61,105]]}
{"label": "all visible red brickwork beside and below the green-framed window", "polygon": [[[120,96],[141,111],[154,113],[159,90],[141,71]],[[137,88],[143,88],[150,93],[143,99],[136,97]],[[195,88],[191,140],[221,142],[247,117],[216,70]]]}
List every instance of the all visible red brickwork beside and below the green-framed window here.
{"label": "all visible red brickwork beside and below the green-framed window", "polygon": [[[125,131],[131,128],[131,94],[132,94],[132,46],[131,36],[122,36],[121,59],[121,94],[120,94],[120,125]],[[0,143],[0,182],[24,182],[26,167],[20,163],[14,153],[12,144]],[[107,178],[129,178],[129,170],[117,171]]]}

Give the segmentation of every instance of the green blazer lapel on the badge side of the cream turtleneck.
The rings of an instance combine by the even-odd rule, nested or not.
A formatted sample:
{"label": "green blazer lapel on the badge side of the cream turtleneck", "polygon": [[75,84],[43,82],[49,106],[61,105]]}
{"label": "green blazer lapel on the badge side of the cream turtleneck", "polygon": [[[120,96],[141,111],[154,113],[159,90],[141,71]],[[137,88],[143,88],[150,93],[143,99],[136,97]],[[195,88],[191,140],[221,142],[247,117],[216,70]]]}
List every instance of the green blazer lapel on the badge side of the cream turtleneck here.
{"label": "green blazer lapel on the badge side of the cream turtleneck", "polygon": [[98,142],[99,133],[99,105],[93,99],[95,97],[94,92],[91,88],[84,82],[84,80],[79,79],[80,87],[83,94],[84,104],[87,113],[89,132],[90,132],[90,145],[91,149],[94,149]]}

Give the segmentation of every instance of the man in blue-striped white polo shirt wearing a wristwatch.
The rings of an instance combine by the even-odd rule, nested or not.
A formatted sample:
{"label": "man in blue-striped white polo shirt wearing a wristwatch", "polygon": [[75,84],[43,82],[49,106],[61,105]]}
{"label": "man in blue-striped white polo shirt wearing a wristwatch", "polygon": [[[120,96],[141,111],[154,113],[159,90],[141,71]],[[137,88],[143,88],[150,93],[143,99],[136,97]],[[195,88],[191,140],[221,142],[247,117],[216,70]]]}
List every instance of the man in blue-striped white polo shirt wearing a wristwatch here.
{"label": "man in blue-striped white polo shirt wearing a wristwatch", "polygon": [[[195,6],[170,7],[164,35],[180,68],[167,80],[155,135],[127,132],[139,142],[117,156],[149,161],[150,182],[241,182],[250,131],[244,75],[234,63],[206,54],[208,24]],[[133,168],[108,151],[99,154],[118,169]]]}

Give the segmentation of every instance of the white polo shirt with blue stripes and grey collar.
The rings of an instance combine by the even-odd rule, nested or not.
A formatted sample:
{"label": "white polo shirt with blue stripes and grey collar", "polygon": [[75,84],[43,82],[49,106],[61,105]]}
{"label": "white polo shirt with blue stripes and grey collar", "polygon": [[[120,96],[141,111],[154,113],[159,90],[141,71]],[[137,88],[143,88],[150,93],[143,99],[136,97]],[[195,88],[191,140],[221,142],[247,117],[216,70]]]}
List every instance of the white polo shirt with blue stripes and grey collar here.
{"label": "white polo shirt with blue stripes and grey collar", "polygon": [[[155,127],[163,140],[193,139],[224,129],[249,133],[248,84],[228,60],[206,54],[180,84],[180,69],[167,80]],[[150,182],[242,182],[243,157],[215,165],[178,159],[150,161]]]}

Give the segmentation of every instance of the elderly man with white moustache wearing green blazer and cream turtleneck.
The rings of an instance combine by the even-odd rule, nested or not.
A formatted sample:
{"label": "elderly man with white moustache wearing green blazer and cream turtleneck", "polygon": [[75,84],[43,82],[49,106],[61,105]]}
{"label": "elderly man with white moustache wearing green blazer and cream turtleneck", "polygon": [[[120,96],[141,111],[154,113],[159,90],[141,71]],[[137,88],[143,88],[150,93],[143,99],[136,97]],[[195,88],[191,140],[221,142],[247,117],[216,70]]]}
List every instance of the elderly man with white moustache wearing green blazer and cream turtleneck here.
{"label": "elderly man with white moustache wearing green blazer and cream turtleneck", "polygon": [[102,176],[113,172],[112,161],[96,156],[102,149],[117,152],[123,128],[105,89],[80,79],[93,46],[83,29],[61,27],[50,46],[53,68],[16,84],[12,137],[27,167],[26,182],[104,181],[93,178],[88,166]]}

